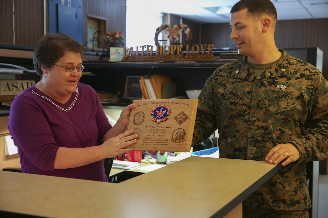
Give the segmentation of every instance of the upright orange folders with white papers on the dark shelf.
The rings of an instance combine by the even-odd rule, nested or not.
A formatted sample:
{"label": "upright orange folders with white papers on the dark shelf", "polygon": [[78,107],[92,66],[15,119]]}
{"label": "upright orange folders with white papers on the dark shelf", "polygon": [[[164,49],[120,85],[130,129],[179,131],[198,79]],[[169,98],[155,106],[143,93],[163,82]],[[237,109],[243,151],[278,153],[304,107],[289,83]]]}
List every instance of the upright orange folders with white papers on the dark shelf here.
{"label": "upright orange folders with white papers on the dark shelf", "polygon": [[141,76],[139,81],[142,99],[162,99],[164,84],[172,84],[170,77],[157,74],[154,76]]}

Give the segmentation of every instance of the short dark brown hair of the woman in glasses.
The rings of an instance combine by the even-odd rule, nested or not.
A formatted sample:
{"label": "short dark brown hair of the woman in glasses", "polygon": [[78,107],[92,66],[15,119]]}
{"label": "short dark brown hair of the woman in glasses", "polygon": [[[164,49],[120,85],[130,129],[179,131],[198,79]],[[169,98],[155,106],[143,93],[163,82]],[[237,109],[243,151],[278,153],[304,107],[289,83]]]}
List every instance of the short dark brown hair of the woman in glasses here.
{"label": "short dark brown hair of the woman in glasses", "polygon": [[42,36],[33,53],[33,64],[36,73],[42,75],[41,65],[50,68],[64,55],[65,51],[80,54],[82,58],[86,48],[64,33],[47,33]]}

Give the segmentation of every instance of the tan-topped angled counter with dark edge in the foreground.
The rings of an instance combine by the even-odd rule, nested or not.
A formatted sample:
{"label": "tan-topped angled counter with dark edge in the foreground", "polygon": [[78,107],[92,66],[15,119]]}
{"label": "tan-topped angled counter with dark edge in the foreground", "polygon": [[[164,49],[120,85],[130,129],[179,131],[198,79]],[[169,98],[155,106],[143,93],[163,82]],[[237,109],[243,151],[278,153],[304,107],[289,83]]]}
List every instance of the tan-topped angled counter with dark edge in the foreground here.
{"label": "tan-topped angled counter with dark edge in the foreground", "polygon": [[240,211],[240,203],[279,169],[262,161],[192,156],[121,183],[0,171],[0,212],[224,217],[238,205]]}

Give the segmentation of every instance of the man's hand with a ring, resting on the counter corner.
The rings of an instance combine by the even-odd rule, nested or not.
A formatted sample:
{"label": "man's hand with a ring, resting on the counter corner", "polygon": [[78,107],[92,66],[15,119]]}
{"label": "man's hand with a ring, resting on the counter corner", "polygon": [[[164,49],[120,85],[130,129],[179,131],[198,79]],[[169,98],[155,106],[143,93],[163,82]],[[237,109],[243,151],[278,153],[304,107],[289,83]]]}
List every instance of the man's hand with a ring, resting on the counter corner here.
{"label": "man's hand with a ring, resting on the counter corner", "polygon": [[270,164],[278,164],[281,161],[281,166],[286,166],[291,162],[297,161],[299,158],[299,151],[297,147],[292,143],[278,144],[276,147],[270,150],[268,155],[265,157],[265,161]]}

